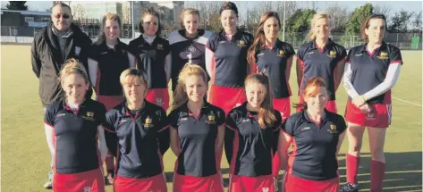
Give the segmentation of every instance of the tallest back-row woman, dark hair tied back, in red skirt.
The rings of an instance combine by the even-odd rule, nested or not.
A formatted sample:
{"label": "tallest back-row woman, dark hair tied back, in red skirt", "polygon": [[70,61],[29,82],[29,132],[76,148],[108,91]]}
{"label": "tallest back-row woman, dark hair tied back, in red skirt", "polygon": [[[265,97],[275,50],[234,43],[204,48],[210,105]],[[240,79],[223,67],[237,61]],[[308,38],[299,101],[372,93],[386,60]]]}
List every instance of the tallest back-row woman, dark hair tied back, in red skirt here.
{"label": "tallest back-row woman, dark hair tied back, in red skirt", "polygon": [[247,51],[253,36],[237,29],[238,8],[225,2],[220,9],[223,30],[214,33],[206,46],[206,68],[210,76],[210,104],[228,113],[245,101],[244,79],[248,74]]}

